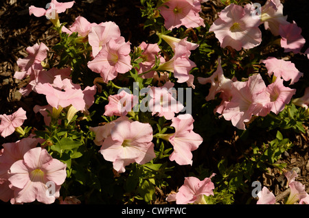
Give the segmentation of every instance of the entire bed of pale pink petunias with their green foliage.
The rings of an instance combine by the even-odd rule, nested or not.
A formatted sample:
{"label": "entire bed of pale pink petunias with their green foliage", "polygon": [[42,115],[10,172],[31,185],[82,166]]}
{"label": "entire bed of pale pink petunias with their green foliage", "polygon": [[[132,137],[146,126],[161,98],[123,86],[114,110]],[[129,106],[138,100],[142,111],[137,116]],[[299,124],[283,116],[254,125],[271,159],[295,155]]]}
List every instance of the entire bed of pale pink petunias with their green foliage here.
{"label": "entire bed of pale pink petunias with their green foliage", "polygon": [[282,1],[130,1],[126,31],[79,4],[27,5],[53,40],[15,58],[2,204],[309,204],[309,49]]}

